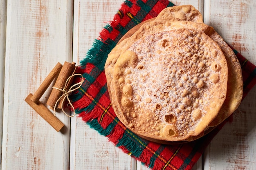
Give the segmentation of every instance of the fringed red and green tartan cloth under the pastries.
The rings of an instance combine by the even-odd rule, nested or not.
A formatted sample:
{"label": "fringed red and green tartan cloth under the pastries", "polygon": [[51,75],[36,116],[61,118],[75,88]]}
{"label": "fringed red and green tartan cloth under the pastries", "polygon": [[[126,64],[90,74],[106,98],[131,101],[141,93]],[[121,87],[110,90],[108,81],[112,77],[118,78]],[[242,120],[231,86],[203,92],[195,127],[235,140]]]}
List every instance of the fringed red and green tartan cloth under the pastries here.
{"label": "fringed red and green tartan cloth under the pastries", "polygon": [[[128,130],[115,115],[104,73],[108,53],[121,37],[133,26],[156,17],[162,9],[169,6],[174,4],[168,0],[126,0],[114,20],[105,26],[92,49],[81,61],[79,72],[85,77],[85,82],[71,97],[79,117],[144,165],[153,170],[190,170],[227,121],[204,137],[189,143],[162,145],[147,141]],[[234,52],[243,70],[245,97],[256,84],[256,66],[236,50]]]}

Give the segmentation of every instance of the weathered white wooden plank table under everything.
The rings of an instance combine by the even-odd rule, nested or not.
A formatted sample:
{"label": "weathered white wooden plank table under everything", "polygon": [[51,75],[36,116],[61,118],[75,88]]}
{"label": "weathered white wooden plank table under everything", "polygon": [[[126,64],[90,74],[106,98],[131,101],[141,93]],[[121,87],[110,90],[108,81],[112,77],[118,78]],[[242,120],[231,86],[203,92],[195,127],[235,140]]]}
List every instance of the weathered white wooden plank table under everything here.
{"label": "weathered white wooden plank table under everything", "polygon": [[[57,114],[56,132],[24,101],[57,62],[79,63],[122,0],[0,0],[2,170],[146,170],[79,117]],[[256,64],[255,0],[173,0]],[[40,99],[46,102],[49,91]],[[194,170],[256,169],[256,87],[213,139]],[[2,134],[2,135],[1,135]]]}

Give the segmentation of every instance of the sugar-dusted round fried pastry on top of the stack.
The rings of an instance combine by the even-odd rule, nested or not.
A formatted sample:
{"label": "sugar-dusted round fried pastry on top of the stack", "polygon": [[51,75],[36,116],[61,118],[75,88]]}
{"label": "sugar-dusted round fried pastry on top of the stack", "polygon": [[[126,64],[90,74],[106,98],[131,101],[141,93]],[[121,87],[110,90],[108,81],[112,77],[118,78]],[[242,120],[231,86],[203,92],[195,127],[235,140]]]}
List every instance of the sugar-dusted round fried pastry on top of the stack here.
{"label": "sugar-dusted round fried pastry on top of the stack", "polygon": [[227,92],[227,63],[202,32],[157,32],[121,53],[111,90],[115,113],[130,130],[157,140],[185,140],[200,135],[218,114]]}

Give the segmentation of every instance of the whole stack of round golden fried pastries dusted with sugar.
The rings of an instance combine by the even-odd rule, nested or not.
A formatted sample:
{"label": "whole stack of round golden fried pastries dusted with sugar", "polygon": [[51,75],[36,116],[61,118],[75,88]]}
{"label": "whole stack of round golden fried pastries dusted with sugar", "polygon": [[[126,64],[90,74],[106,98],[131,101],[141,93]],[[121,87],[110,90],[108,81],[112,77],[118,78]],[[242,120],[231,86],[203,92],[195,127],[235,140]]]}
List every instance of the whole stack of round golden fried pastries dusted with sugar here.
{"label": "whole stack of round golden fried pastries dusted with sugar", "polygon": [[236,55],[191,5],[168,7],[128,31],[105,73],[120,121],[159,143],[202,137],[243,95]]}

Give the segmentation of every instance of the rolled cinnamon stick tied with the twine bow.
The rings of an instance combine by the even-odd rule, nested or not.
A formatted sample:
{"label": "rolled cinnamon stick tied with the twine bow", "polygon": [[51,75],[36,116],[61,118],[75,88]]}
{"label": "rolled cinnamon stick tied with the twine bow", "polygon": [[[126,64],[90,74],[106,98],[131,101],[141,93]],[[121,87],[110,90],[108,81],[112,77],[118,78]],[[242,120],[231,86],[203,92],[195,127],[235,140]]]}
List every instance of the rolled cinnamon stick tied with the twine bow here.
{"label": "rolled cinnamon stick tied with the twine bow", "polygon": [[[56,79],[56,82],[54,84],[54,87],[60,88],[60,89],[64,88],[67,78],[70,77],[74,72],[75,64],[76,64],[75,62],[72,62],[72,63],[64,62],[63,67],[61,68],[61,72],[59,73],[58,78]],[[57,100],[59,99],[59,97],[61,97],[62,94],[63,92],[53,88],[46,104],[53,109]]]}

